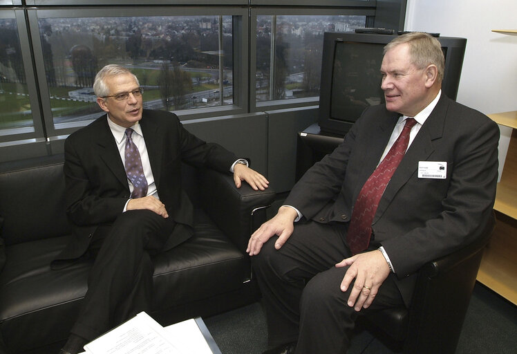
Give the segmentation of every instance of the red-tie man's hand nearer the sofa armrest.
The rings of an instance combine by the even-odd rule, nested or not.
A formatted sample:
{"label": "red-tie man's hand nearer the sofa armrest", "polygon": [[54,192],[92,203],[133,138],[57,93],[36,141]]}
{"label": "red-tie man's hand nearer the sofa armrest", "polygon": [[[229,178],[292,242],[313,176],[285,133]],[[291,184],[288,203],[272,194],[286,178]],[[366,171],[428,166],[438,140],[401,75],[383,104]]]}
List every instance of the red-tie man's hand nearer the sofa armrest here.
{"label": "red-tie man's hand nearer the sofa armrest", "polygon": [[275,234],[279,235],[279,239],[276,240],[274,248],[279,250],[291,236],[292,230],[294,230],[294,219],[297,217],[298,213],[292,207],[280,207],[279,212],[273,218],[263,223],[252,234],[250,241],[247,243],[246,252],[250,256],[259,254],[262,245]]}

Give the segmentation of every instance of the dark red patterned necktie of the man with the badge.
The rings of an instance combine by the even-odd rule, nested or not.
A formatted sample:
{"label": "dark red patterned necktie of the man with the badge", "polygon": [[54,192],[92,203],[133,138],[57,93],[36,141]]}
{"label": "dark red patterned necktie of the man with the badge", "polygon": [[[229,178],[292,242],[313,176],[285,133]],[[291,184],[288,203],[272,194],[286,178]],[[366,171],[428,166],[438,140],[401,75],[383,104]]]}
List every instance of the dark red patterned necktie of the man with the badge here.
{"label": "dark red patterned necktie of the man with the badge", "polygon": [[355,201],[350,226],[346,234],[346,242],[352,254],[357,254],[368,248],[372,234],[372,222],[379,201],[388,185],[391,176],[397,169],[400,161],[404,158],[408,148],[409,132],[417,123],[415,118],[406,118],[406,124],[402,133],[395,140],[388,154],[373,171],[373,174],[366,180],[357,201]]}

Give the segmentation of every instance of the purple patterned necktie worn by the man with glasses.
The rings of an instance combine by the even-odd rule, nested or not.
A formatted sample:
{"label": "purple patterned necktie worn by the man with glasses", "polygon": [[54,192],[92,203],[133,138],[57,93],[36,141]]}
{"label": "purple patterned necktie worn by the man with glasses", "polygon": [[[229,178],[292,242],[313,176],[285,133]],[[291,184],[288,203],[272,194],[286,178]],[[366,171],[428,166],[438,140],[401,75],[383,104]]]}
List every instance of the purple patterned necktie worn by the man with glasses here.
{"label": "purple patterned necktie worn by the man with glasses", "polygon": [[136,147],[131,138],[133,129],[126,129],[126,175],[131,183],[133,183],[133,192],[131,198],[141,198],[147,195],[147,179],[145,179],[144,168],[142,167],[142,159],[140,158],[140,151]]}

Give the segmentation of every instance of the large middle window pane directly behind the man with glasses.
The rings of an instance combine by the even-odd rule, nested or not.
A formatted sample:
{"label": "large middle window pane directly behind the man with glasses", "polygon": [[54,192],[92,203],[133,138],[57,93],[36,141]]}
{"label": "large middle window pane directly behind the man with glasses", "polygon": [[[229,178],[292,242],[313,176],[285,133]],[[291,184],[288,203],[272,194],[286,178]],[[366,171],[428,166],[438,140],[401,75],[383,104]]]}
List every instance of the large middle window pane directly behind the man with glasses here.
{"label": "large middle window pane directly behind the man with glasses", "polygon": [[142,17],[133,16],[142,11],[130,10],[117,17],[71,16],[77,13],[88,14],[42,10],[35,17],[55,129],[77,127],[103,113],[93,81],[106,64],[125,66],[138,77],[146,109],[214,109],[238,102],[233,89],[238,16]]}

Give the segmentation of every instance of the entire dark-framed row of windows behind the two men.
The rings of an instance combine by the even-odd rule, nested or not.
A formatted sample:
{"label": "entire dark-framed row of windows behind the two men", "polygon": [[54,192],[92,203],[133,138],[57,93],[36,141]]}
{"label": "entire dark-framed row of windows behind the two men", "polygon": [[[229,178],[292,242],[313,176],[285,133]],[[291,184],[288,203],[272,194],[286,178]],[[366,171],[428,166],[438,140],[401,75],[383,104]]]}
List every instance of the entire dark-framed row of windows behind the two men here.
{"label": "entire dark-framed row of windows behind the two men", "polygon": [[179,3],[0,0],[0,161],[59,153],[100,116],[105,64],[130,68],[144,106],[182,120],[309,106],[325,30],[398,21],[375,0]]}

